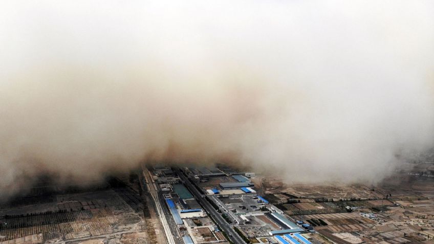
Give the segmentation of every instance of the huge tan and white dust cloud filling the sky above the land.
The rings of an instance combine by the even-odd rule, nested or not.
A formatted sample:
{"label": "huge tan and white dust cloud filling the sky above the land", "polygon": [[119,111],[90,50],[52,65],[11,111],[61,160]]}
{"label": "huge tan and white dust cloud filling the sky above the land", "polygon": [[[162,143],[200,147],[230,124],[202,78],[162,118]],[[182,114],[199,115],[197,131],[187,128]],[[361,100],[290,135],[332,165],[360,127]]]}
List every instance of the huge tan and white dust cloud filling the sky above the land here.
{"label": "huge tan and white dust cloud filling the sky above the land", "polygon": [[0,196],[146,160],[381,180],[434,138],[432,1],[4,1]]}

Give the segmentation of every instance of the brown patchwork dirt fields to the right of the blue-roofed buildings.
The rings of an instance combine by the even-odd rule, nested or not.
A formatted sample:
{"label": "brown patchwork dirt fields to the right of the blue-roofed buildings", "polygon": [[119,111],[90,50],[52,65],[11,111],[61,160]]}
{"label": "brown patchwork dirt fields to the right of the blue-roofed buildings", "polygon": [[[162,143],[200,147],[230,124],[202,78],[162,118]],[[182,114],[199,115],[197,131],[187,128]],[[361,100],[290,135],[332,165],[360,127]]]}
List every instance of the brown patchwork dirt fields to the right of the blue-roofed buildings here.
{"label": "brown patchwork dirt fields to the right of the blue-roofed buildings", "polygon": [[318,242],[434,243],[434,178],[407,173],[432,169],[407,164],[377,185],[284,184],[265,178],[262,186],[270,202],[315,225]]}

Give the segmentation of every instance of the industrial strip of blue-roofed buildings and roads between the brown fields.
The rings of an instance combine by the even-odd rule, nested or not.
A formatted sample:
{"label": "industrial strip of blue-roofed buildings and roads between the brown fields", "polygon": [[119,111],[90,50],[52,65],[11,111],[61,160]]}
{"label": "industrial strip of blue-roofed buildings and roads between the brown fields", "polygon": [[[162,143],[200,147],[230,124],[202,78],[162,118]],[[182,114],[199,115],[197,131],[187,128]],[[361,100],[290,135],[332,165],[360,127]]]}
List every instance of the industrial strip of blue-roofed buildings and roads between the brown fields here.
{"label": "industrial strip of blue-roofed buildings and roads between the brown fields", "polygon": [[165,208],[162,214],[170,213],[163,228],[170,232],[168,243],[311,243],[313,228],[297,224],[257,194],[255,173],[156,165],[144,167],[143,174],[147,188],[160,195],[156,204]]}

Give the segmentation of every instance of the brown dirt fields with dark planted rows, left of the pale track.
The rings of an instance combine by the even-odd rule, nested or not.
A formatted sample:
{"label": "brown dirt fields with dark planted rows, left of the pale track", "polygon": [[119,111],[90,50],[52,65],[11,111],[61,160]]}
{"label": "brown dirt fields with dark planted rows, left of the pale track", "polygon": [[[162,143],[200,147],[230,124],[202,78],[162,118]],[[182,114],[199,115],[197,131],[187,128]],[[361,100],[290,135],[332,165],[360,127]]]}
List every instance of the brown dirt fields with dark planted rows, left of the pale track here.
{"label": "brown dirt fields with dark planted rows, left of the pale track", "polygon": [[151,243],[141,198],[133,189],[80,190],[49,198],[24,197],[2,205],[0,243]]}

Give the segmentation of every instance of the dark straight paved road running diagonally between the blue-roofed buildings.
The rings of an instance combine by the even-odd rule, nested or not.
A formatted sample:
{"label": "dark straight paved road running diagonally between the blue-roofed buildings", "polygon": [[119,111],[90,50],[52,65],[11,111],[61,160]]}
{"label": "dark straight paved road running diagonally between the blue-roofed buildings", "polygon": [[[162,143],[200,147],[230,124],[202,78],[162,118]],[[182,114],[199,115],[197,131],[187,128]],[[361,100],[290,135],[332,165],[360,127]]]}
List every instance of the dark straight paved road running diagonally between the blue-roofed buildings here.
{"label": "dark straight paved road running diagonally between the blue-roofed buildings", "polygon": [[191,182],[187,179],[187,177],[179,170],[179,168],[173,168],[180,178],[184,181],[184,185],[188,188],[188,190],[193,193],[193,195],[197,198],[198,202],[208,211],[208,213],[212,216],[212,218],[216,221],[217,225],[226,232],[229,239],[236,244],[244,244],[246,243],[243,238],[241,238],[238,233],[235,232],[234,229],[226,222],[226,220],[218,213],[214,207],[205,199],[205,195],[199,192],[199,190],[194,187]]}

